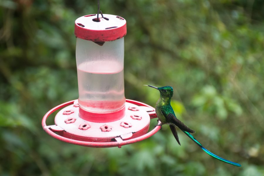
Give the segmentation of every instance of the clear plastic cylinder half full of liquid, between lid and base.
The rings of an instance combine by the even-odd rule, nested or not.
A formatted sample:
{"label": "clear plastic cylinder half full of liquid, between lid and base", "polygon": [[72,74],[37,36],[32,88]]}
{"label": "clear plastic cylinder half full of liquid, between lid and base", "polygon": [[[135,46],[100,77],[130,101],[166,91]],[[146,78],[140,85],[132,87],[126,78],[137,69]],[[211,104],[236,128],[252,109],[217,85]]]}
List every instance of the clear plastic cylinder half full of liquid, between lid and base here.
{"label": "clear plastic cylinder half full of liquid, between lid and base", "polygon": [[84,110],[104,113],[125,105],[124,37],[102,46],[77,38],[76,63],[78,101]]}

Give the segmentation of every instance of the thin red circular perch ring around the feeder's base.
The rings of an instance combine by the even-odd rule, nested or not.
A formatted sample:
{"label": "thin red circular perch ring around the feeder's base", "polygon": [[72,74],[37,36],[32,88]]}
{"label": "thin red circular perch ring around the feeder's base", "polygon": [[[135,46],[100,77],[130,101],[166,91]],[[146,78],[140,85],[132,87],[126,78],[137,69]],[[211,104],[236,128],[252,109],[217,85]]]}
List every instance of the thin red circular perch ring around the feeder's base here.
{"label": "thin red circular perch ring around the feeder's base", "polygon": [[[143,136],[139,136],[137,138],[133,138],[133,139],[128,139],[128,140],[124,140],[124,141],[116,141],[116,142],[87,142],[87,141],[78,141],[78,140],[74,140],[74,139],[70,139],[70,138],[65,138],[63,136],[60,136],[58,134],[56,134],[55,132],[53,132],[47,125],[46,125],[46,120],[48,119],[48,117],[54,112],[57,111],[58,109],[61,109],[65,106],[71,105],[73,104],[75,100],[72,101],[68,101],[66,103],[60,104],[56,107],[54,107],[53,109],[50,109],[50,111],[48,111],[42,119],[42,127],[44,129],[44,131],[46,133],[48,133],[50,136],[52,136],[53,138],[56,138],[60,141],[64,141],[67,143],[72,143],[72,144],[76,144],[76,145],[82,145],[82,146],[87,146],[87,147],[95,147],[95,148],[107,148],[107,147],[121,147],[122,145],[127,145],[127,144],[132,144],[132,143],[136,143],[139,141],[142,141],[146,138],[149,138],[150,136],[153,136],[155,133],[157,133],[160,130],[160,126],[156,126],[153,130],[149,131],[148,133],[144,134]],[[141,103],[139,101],[134,101],[134,100],[129,100],[126,99],[126,102],[129,103],[133,103],[136,104],[138,106],[147,106],[150,107],[151,109],[155,110],[153,107],[149,106],[148,104],[144,104]],[[155,111],[154,113],[149,113],[150,115],[150,119],[155,118]],[[161,122],[158,122],[158,125],[160,125]]]}

